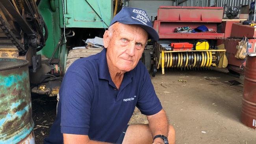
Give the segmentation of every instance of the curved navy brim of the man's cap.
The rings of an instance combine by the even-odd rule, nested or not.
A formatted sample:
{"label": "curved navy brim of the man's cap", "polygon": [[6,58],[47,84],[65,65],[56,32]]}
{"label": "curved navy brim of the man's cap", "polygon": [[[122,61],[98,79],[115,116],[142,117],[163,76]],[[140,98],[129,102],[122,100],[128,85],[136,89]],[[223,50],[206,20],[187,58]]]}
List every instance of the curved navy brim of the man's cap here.
{"label": "curved navy brim of the man's cap", "polygon": [[[141,24],[141,23],[131,23],[131,22],[125,22],[125,21],[122,21],[122,20],[118,20],[118,21],[115,21],[115,22],[120,22],[122,24],[133,24],[133,25],[137,25],[141,28],[143,28],[147,33],[148,33],[148,39],[152,39],[154,41],[158,41],[159,40],[159,35],[158,33],[156,32],[156,30],[150,26],[146,26],[144,24]],[[114,24],[115,22],[112,22],[112,24]]]}

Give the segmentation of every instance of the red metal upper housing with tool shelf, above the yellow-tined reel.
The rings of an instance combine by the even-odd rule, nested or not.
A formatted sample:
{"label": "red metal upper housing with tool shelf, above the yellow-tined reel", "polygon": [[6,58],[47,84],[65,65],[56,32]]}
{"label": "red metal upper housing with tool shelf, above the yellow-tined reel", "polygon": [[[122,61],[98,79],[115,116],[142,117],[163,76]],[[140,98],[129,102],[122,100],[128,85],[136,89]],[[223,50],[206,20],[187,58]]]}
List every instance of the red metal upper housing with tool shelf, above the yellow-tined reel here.
{"label": "red metal upper housing with tool shelf, above the yellow-tined reel", "polygon": [[[154,29],[160,39],[223,39],[224,33],[217,33],[217,24],[222,22],[223,7],[168,7],[160,6]],[[205,33],[174,33],[182,26],[197,28],[205,25],[213,31]]]}

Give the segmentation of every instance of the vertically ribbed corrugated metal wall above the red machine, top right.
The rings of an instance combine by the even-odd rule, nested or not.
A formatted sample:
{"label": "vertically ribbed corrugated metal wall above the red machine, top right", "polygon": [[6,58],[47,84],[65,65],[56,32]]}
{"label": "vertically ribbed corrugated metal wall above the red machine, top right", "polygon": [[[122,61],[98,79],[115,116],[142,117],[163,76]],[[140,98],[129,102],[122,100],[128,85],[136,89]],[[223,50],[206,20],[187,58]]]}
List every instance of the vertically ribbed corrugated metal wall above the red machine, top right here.
{"label": "vertically ribbed corrugated metal wall above the red machine, top right", "polygon": [[[215,0],[215,3],[217,7],[223,7],[224,4],[227,4],[227,6],[250,5],[253,1],[254,0]],[[186,0],[185,2],[184,0],[177,0],[177,4],[178,6],[206,7],[210,5],[210,0]]]}

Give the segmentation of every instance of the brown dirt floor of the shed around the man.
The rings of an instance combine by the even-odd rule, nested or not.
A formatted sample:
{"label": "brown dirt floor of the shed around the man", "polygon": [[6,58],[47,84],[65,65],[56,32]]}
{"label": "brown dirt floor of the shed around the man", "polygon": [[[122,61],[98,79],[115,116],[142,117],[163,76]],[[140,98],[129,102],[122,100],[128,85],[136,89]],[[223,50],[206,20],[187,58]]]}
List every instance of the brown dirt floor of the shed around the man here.
{"label": "brown dirt floor of the shed around the man", "polygon": [[[243,85],[230,86],[230,80],[241,81],[213,70],[157,72],[152,83],[176,130],[176,144],[256,144],[256,130],[240,122]],[[56,103],[56,97],[32,96],[36,144],[49,134]],[[129,123],[148,122],[136,109]]]}

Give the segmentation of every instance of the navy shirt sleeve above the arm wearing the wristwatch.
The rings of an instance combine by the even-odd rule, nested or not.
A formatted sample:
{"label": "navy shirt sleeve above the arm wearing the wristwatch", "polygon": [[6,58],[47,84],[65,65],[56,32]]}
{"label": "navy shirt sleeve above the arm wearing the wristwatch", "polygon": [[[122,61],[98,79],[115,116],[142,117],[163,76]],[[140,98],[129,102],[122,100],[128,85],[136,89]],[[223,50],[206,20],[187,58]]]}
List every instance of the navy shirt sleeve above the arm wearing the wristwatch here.
{"label": "navy shirt sleeve above the arm wearing the wristwatch", "polygon": [[[143,64],[142,64],[143,65]],[[142,87],[139,92],[137,107],[142,114],[153,115],[161,111],[160,100],[156,96],[147,68],[143,65]]]}

